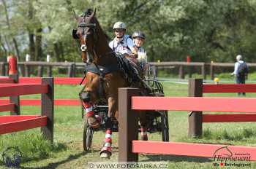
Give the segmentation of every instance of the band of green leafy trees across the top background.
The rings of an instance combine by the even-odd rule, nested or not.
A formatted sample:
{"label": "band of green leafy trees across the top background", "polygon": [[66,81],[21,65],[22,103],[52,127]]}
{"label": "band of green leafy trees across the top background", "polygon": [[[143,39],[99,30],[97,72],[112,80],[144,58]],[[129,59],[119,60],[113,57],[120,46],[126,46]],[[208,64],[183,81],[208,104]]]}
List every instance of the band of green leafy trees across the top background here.
{"label": "band of green leafy trees across the top background", "polygon": [[10,54],[24,60],[80,62],[72,29],[87,8],[97,9],[105,33],[127,23],[127,34],[143,31],[151,61],[255,62],[256,0],[0,0],[0,61]]}

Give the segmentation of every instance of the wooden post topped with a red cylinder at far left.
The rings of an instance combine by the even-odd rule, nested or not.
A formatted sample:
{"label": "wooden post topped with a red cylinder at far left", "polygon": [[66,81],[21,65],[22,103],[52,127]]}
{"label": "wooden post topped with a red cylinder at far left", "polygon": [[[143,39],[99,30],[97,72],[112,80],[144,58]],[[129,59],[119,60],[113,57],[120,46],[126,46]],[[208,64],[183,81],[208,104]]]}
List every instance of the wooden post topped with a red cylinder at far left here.
{"label": "wooden post topped with a red cylinder at far left", "polygon": [[[9,66],[8,66],[8,74],[9,78],[14,80],[14,83],[19,82],[19,75],[18,75],[18,65],[17,65],[17,58],[14,55],[10,55],[7,58]],[[10,102],[15,103],[14,111],[11,111],[11,115],[20,115],[20,96],[10,96]]]}

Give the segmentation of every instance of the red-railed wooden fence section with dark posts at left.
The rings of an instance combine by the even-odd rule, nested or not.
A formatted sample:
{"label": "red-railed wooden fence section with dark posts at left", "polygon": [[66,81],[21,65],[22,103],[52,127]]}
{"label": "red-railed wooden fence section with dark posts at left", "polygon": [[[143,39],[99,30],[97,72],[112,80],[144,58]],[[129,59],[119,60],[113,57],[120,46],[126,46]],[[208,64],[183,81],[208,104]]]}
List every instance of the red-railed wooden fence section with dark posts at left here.
{"label": "red-railed wooden fence section with dark posts at left", "polygon": [[[14,74],[0,81],[0,97],[10,96],[10,101],[0,103],[0,111],[11,111],[10,116],[0,116],[0,134],[41,127],[44,137],[53,143],[53,78],[42,78],[41,84],[19,84],[17,77]],[[41,116],[20,115],[19,96],[31,94],[41,94]]]}

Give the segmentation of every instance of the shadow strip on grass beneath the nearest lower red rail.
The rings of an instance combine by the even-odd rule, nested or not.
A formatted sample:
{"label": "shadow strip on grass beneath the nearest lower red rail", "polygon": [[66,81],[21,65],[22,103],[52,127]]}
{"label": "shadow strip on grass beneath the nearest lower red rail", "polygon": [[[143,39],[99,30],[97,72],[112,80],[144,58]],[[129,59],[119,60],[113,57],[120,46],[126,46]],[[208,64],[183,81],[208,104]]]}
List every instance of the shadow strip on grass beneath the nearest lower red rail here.
{"label": "shadow strip on grass beneath the nearest lower red rail", "polygon": [[148,159],[140,162],[169,161],[169,162],[211,162],[211,159],[204,157],[189,157],[177,155],[142,155]]}

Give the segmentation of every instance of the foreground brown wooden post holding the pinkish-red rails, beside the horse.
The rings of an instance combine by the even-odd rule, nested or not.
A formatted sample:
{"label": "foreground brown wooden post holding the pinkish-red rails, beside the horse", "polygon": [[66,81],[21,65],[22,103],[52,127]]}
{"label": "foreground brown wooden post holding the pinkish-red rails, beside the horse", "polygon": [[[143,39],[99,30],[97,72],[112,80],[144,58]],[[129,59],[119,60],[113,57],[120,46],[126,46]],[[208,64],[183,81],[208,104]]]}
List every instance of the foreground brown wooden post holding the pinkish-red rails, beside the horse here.
{"label": "foreground brown wooden post holding the pinkish-red rails, beside the horse", "polygon": [[138,140],[138,113],[132,111],[132,96],[140,95],[135,88],[118,89],[118,161],[138,162],[132,153],[132,141]]}

